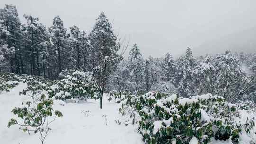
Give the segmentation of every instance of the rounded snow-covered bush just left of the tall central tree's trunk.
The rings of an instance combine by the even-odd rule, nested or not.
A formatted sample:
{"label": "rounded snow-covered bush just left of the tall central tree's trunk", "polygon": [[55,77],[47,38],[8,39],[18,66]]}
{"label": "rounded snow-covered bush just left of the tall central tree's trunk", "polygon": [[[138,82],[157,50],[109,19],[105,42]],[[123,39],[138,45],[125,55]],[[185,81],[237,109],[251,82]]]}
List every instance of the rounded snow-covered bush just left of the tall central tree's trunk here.
{"label": "rounded snow-covered bush just left of the tall central tree's trunk", "polygon": [[52,85],[48,90],[50,97],[61,100],[87,100],[89,98],[97,98],[95,97],[95,93],[98,90],[91,73],[79,70],[65,70],[60,73],[60,79],[60,81]]}

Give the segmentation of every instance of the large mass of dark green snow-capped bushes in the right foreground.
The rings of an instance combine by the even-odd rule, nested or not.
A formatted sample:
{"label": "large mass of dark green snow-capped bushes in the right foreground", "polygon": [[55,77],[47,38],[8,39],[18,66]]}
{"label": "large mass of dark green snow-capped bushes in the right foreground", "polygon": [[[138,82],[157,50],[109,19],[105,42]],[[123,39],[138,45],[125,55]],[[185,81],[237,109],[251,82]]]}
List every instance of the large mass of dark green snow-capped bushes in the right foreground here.
{"label": "large mass of dark green snow-capped bushes in the right foreground", "polygon": [[212,137],[238,143],[239,135],[255,126],[252,118],[241,119],[239,108],[211,94],[183,98],[149,92],[128,96],[119,112],[138,124],[146,144],[189,144],[195,139],[206,144]]}

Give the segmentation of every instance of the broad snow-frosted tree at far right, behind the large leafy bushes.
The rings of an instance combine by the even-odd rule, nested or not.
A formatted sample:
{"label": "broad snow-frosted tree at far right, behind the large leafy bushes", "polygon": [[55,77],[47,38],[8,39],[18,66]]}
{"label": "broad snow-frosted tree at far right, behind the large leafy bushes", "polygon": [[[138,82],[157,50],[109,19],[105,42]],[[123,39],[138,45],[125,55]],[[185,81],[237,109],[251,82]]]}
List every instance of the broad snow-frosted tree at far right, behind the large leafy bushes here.
{"label": "broad snow-frosted tree at far right, behind the large leafy bushes", "polygon": [[241,62],[230,51],[216,57],[215,68],[216,94],[223,96],[229,102],[241,98],[254,84],[242,71]]}

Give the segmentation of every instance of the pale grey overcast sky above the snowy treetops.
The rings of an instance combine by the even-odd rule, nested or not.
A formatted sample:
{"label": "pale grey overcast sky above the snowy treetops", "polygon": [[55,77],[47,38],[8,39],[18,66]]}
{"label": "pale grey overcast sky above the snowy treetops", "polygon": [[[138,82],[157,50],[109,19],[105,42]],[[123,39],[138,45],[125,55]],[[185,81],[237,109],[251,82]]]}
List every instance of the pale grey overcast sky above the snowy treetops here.
{"label": "pale grey overcast sky above the snowy treetops", "polygon": [[130,47],[136,42],[145,57],[177,56],[187,47],[195,54],[221,53],[244,37],[234,49],[256,51],[256,0],[0,0],[4,4],[16,5],[20,17],[39,17],[47,27],[60,15],[64,27],[77,25],[87,33],[104,11],[115,32],[130,36]]}

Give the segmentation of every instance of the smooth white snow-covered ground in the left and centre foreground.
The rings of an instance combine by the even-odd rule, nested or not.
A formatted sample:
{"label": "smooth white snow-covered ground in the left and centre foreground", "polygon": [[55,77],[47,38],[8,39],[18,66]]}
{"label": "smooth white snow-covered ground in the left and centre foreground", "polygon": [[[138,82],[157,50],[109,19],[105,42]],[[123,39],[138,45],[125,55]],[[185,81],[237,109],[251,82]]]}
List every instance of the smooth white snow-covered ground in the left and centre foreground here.
{"label": "smooth white snow-covered ground in the left and centre foreground", "polygon": [[[9,119],[16,118],[11,110],[29,99],[19,96],[19,91],[25,87],[25,84],[19,84],[10,92],[0,94],[0,144],[40,144],[38,134],[28,135],[16,125],[7,127]],[[54,109],[60,110],[63,117],[57,118],[50,126],[52,131],[45,144],[144,144],[135,126],[115,123],[115,119],[122,117],[119,108],[119,104],[108,102],[106,98],[103,99],[103,109],[99,108],[99,101],[91,99],[86,103],[67,103],[65,106],[55,101]],[[88,117],[82,111],[89,111]]]}

